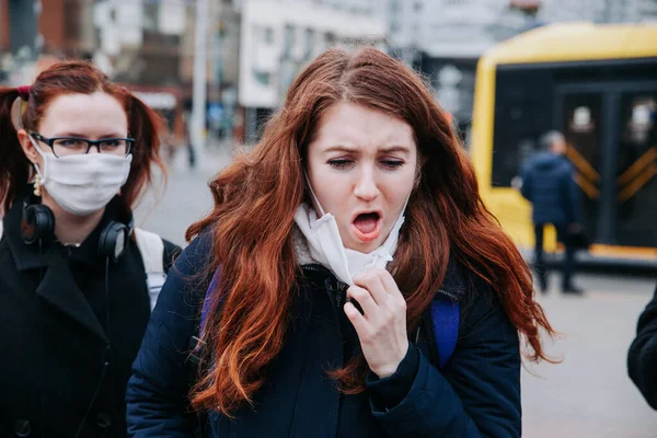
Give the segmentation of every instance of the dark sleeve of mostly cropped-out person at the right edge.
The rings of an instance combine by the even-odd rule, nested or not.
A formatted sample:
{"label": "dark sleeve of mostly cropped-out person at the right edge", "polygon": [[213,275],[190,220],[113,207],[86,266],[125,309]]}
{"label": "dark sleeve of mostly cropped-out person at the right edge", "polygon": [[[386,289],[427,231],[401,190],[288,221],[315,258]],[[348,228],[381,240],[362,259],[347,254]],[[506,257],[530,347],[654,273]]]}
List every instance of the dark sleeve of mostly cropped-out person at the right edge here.
{"label": "dark sleeve of mostly cropped-out person at the right edge", "polygon": [[638,318],[636,338],[627,354],[627,371],[648,404],[657,410],[657,288]]}

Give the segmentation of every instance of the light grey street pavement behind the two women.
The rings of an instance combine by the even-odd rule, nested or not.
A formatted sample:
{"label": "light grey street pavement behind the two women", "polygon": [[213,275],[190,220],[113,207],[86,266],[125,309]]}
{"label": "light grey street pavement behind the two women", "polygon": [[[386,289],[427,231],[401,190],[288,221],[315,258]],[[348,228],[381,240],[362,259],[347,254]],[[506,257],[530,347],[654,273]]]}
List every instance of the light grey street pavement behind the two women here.
{"label": "light grey street pavement behind the two women", "polygon": [[[232,151],[215,148],[187,169],[181,151],[170,168],[169,184],[149,193],[137,209],[137,223],[177,244],[184,231],[209,212],[207,182],[229,161]],[[556,275],[551,284],[557,285]],[[549,354],[562,362],[522,370],[523,436],[526,437],[657,437],[652,411],[627,377],[626,354],[636,320],[655,290],[655,277],[581,274],[584,298],[552,289],[539,297],[561,338],[546,339]]]}

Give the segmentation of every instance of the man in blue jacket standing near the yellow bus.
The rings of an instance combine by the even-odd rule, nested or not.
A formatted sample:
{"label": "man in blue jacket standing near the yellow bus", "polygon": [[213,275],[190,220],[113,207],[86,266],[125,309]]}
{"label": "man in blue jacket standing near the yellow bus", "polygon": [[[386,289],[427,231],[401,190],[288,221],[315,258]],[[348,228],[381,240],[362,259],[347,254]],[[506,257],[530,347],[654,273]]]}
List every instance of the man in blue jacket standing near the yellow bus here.
{"label": "man in blue jacket standing near the yellow bus", "polygon": [[548,290],[548,266],[543,254],[543,232],[546,224],[556,228],[557,237],[565,245],[562,267],[562,291],[581,295],[573,284],[577,237],[583,235],[581,200],[575,183],[575,169],[566,158],[566,140],[558,131],[550,131],[541,138],[543,151],[539,152],[522,172],[521,193],[532,205],[535,251],[534,269],[541,291]]}

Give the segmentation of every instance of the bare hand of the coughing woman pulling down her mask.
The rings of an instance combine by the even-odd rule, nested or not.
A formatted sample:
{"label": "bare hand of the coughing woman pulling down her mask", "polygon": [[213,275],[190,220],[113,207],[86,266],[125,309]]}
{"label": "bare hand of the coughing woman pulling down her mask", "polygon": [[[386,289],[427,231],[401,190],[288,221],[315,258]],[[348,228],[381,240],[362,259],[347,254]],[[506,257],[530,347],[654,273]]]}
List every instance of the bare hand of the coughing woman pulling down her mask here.
{"label": "bare hand of the coughing woman pulling down her mask", "polygon": [[347,289],[345,313],[358,334],[369,368],[380,379],[394,374],[408,351],[406,300],[385,269],[370,269],[354,276]]}

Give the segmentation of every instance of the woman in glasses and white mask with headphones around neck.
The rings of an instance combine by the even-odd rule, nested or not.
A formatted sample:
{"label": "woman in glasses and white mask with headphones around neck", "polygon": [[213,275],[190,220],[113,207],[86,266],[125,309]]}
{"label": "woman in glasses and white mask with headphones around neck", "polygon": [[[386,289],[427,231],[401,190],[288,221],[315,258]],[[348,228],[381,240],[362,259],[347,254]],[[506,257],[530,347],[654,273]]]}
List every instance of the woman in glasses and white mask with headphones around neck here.
{"label": "woman in glasses and white mask with headphones around neck", "polygon": [[87,62],[0,88],[0,436],[120,437],[175,245],[134,229],[161,122]]}

